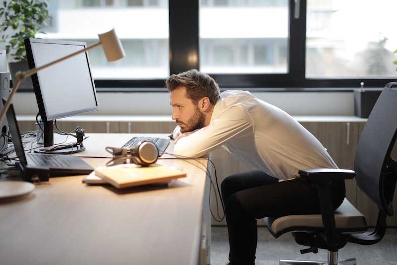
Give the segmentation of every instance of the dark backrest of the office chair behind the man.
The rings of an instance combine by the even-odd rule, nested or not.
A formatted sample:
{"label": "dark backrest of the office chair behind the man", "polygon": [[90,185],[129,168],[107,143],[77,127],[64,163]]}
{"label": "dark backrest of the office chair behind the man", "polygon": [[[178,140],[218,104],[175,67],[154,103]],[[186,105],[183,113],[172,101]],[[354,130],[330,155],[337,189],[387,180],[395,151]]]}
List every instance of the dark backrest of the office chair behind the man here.
{"label": "dark backrest of the office chair behind the man", "polygon": [[391,151],[396,136],[397,83],[388,83],[365,124],[354,160],[358,186],[387,215],[394,214],[397,176],[396,161],[391,158]]}

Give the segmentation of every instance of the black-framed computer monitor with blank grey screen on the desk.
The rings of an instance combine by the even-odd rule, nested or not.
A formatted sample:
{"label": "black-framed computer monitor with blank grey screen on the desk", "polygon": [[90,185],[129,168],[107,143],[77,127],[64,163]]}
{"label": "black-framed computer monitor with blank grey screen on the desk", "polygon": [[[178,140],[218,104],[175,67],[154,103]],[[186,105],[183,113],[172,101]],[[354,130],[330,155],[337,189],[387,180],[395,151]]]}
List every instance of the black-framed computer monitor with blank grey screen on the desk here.
{"label": "black-framed computer monitor with blank grey screen on the desk", "polygon": [[[25,39],[25,48],[32,69],[82,50],[86,44],[30,38]],[[44,146],[54,145],[54,120],[99,110],[87,52],[37,72],[32,82],[44,123]],[[82,150],[70,150],[77,151]]]}

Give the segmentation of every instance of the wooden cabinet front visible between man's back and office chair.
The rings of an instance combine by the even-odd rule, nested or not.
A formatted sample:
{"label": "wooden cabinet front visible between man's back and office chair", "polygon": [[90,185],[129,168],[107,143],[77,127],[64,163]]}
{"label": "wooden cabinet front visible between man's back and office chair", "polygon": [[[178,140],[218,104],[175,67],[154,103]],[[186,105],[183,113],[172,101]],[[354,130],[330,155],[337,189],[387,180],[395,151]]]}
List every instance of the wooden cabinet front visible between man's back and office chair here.
{"label": "wooden cabinet front visible between man's back and office chair", "polygon": [[[341,169],[353,169],[357,149],[359,123],[308,122],[301,123],[327,148],[333,161]],[[356,181],[346,180],[346,198],[356,205]]]}

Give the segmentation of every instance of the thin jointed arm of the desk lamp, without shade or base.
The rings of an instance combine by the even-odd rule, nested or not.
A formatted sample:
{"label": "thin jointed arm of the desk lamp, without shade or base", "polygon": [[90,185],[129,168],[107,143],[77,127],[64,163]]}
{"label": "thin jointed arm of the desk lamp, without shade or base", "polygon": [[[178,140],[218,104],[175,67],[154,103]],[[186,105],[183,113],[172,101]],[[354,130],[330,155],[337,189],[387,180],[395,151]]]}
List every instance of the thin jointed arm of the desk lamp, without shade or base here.
{"label": "thin jointed arm of the desk lamp, without shade or base", "polygon": [[[77,52],[74,52],[74,53],[72,53],[72,54],[66,55],[65,57],[62,57],[62,58],[60,58],[60,59],[58,59],[58,60],[55,60],[55,61],[53,61],[53,62],[50,62],[50,63],[48,63],[48,64],[46,64],[46,65],[44,65],[44,66],[40,66],[40,67],[37,67],[37,68],[33,68],[33,69],[30,69],[30,70],[24,71],[24,72],[18,71],[18,72],[15,74],[15,85],[14,85],[14,87],[12,88],[11,93],[8,95],[7,101],[5,102],[5,105],[4,105],[4,107],[3,107],[3,110],[1,111],[0,122],[3,120],[3,118],[4,118],[4,116],[5,116],[5,113],[7,112],[8,108],[9,108],[9,105],[11,105],[11,99],[12,99],[12,97],[14,96],[15,92],[18,90],[18,88],[19,88],[19,86],[20,86],[20,84],[22,83],[23,80],[25,80],[26,78],[32,76],[33,74],[37,73],[38,71],[40,71],[40,70],[42,70],[42,69],[44,69],[44,68],[47,68],[47,67],[49,67],[49,66],[58,64],[58,63],[60,63],[60,62],[62,62],[62,61],[64,61],[64,60],[66,60],[66,59],[69,59],[70,57],[73,57],[73,56],[75,56],[75,55],[84,53],[84,52],[86,52],[86,51],[88,51],[88,50],[90,50],[90,49],[92,49],[92,48],[95,48],[95,47],[97,47],[97,46],[100,46],[101,44],[102,44],[101,42],[95,43],[95,44],[93,44],[93,45],[91,45],[91,46],[88,46],[88,47],[85,48],[85,49],[82,49],[82,50],[80,50],[80,51],[77,51]],[[0,99],[0,100],[1,100],[1,99]]]}

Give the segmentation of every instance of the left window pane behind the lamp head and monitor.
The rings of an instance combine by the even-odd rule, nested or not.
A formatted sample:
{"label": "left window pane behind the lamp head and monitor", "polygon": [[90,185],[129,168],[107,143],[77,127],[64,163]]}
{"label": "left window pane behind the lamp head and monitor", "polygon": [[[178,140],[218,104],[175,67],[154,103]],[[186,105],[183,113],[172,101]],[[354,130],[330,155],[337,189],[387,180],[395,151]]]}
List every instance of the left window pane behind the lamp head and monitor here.
{"label": "left window pane behind the lamp head and monitor", "polygon": [[[142,5],[145,8],[139,8]],[[131,6],[129,8],[125,8]],[[169,75],[167,0],[50,1],[56,24],[43,37],[98,42],[114,25],[126,57],[107,62],[100,47],[88,51],[96,80],[160,79]]]}

